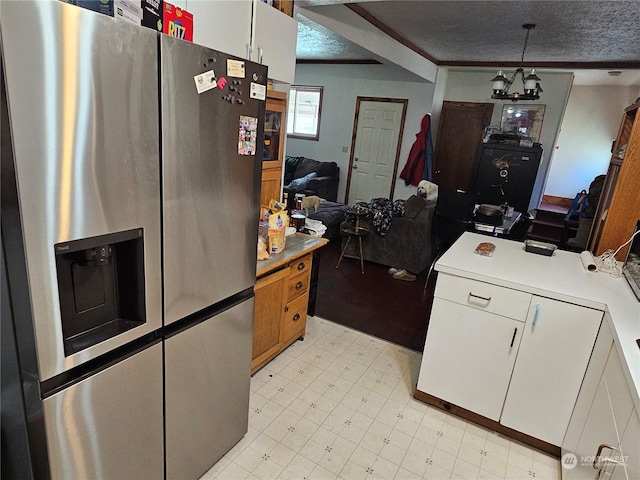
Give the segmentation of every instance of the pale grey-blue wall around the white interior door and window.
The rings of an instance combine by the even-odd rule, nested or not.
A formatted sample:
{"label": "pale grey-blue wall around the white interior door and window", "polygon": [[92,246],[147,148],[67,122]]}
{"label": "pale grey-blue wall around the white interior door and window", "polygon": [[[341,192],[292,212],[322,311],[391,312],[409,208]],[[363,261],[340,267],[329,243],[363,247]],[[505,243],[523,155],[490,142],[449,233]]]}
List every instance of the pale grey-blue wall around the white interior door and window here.
{"label": "pale grey-blue wall around the white interior door and window", "polygon": [[[338,201],[345,201],[349,154],[357,97],[406,98],[407,112],[398,161],[398,174],[405,165],[420,121],[431,112],[434,84],[399,67],[387,65],[296,66],[296,85],[324,87],[320,118],[320,139],[287,139],[286,154],[315,160],[335,161],[340,166]],[[435,132],[432,132],[435,137]],[[348,147],[346,153],[342,147]],[[416,191],[396,178],[394,198],[409,198]]]}

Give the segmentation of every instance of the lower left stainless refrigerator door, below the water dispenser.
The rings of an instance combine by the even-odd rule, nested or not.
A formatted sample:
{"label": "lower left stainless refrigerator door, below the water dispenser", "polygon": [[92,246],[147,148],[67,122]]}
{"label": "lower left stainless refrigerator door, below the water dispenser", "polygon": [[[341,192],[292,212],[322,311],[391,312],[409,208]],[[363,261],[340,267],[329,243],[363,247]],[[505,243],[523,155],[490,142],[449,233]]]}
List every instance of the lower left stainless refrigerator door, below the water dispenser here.
{"label": "lower left stainless refrigerator door, below the water dispenser", "polygon": [[163,478],[162,344],[44,400],[51,478]]}

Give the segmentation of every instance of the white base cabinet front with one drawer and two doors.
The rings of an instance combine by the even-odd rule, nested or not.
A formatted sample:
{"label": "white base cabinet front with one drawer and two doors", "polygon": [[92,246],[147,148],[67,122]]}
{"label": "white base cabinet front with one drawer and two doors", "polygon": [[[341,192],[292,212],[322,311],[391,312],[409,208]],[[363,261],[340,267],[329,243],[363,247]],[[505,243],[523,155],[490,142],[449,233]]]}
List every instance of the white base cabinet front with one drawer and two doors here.
{"label": "white base cabinet front with one drawer and two doors", "polygon": [[440,273],[418,391],[560,446],[602,316]]}

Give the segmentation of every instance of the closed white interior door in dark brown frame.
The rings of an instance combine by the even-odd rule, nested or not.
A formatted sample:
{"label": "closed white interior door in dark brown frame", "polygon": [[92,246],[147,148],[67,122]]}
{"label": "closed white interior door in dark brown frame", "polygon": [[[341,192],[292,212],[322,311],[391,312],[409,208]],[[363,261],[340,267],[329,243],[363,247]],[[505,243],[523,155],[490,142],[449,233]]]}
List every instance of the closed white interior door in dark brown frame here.
{"label": "closed white interior door in dark brown frame", "polygon": [[407,101],[358,98],[347,203],[392,198]]}

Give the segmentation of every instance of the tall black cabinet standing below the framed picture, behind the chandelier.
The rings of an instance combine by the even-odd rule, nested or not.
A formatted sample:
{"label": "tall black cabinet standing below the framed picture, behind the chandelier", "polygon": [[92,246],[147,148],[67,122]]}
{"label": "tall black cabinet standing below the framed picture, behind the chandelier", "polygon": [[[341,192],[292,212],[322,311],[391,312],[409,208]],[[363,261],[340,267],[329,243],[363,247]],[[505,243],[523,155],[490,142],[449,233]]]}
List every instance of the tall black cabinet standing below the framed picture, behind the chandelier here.
{"label": "tall black cabinet standing below the framed picture, behind the chandelier", "polygon": [[502,205],[506,202],[516,212],[527,212],[541,158],[539,144],[533,147],[480,145],[473,182],[476,203]]}

